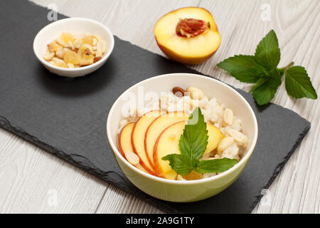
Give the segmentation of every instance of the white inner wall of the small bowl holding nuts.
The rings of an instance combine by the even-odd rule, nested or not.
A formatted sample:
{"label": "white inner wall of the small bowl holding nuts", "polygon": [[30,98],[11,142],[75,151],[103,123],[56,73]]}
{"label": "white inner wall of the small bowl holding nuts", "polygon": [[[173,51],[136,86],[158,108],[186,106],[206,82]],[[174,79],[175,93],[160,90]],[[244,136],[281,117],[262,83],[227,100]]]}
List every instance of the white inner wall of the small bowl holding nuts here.
{"label": "white inner wall of the small bowl holding nuts", "polygon": [[60,37],[60,35],[64,32],[72,33],[73,35],[88,34],[99,36],[105,40],[107,44],[107,53],[105,53],[103,57],[110,55],[114,45],[112,33],[110,33],[105,26],[97,21],[83,18],[61,19],[44,27],[36,36],[33,43],[33,48],[37,57],[42,59],[42,56],[47,51],[47,44]]}

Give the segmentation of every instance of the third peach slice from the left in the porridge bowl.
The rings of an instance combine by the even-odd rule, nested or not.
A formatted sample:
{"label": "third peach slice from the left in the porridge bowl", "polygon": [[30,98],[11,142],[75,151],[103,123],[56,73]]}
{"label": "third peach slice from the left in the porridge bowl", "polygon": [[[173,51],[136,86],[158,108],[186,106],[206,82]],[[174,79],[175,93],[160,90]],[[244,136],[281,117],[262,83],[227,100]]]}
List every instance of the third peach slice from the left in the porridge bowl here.
{"label": "third peach slice from the left in the porridge bowl", "polygon": [[154,166],[154,144],[156,143],[156,138],[161,134],[161,132],[166,129],[169,125],[179,122],[181,120],[188,120],[189,114],[183,112],[171,112],[164,115],[160,115],[156,118],[149,127],[146,129],[144,135],[144,150],[146,151],[146,156],[149,157],[151,165]]}

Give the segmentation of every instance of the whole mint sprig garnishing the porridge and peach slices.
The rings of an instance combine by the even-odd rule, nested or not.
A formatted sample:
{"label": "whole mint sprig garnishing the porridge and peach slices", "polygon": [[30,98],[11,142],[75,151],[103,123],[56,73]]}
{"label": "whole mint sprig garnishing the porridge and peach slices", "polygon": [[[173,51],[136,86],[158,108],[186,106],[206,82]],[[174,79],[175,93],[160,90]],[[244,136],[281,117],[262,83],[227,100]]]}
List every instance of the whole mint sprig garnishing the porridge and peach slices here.
{"label": "whole mint sprig garnishing the porridge and peach slices", "polygon": [[162,157],[162,160],[169,160],[169,165],[178,174],[188,175],[195,170],[199,173],[224,172],[233,167],[238,160],[222,158],[200,161],[208,145],[208,130],[200,108],[191,113],[188,122],[179,140],[178,154],[170,154]]}

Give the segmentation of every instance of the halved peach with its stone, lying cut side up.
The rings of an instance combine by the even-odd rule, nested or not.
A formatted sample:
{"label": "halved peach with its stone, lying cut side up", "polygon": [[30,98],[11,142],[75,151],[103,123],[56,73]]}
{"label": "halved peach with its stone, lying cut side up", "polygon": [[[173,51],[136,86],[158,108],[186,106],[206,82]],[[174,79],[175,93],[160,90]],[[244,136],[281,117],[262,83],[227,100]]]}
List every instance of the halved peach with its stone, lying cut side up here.
{"label": "halved peach with its stone, lying cut side up", "polygon": [[212,14],[199,7],[176,9],[154,26],[156,43],[166,56],[185,64],[200,64],[217,51],[221,37]]}

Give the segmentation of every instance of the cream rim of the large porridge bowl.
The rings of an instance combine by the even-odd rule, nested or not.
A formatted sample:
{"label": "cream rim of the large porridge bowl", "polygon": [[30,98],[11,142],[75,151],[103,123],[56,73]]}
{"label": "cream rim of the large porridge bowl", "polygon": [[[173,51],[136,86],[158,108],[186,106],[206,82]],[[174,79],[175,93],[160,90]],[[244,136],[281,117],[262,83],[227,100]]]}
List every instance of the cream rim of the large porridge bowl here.
{"label": "cream rim of the large porridge bowl", "polygon": [[[179,181],[179,180],[168,180],[168,179],[165,179],[165,178],[161,178],[161,177],[156,177],[155,175],[151,175],[149,173],[146,173],[146,172],[143,172],[142,170],[139,170],[137,167],[135,167],[134,165],[130,164],[122,155],[121,153],[119,152],[119,149],[117,148],[117,145],[114,145],[114,142],[112,140],[112,133],[111,133],[111,129],[110,129],[110,116],[112,115],[116,115],[114,114],[114,105],[115,103],[118,102],[118,100],[120,98],[122,98],[122,96],[127,93],[128,90],[131,90],[132,88],[136,87],[136,86],[139,86],[141,84],[143,84],[144,82],[146,81],[151,81],[151,80],[154,80],[155,78],[165,78],[165,77],[171,77],[171,76],[177,76],[177,75],[187,75],[187,76],[196,76],[196,77],[199,77],[199,78],[204,78],[204,79],[209,79],[211,81],[214,81],[215,83],[218,83],[219,86],[223,86],[225,88],[228,88],[229,90],[232,90],[233,93],[235,93],[235,95],[238,95],[238,97],[240,97],[240,99],[242,99],[242,101],[244,101],[246,107],[250,110],[250,113],[252,115],[252,118],[254,120],[254,130],[255,130],[255,135],[252,139],[252,144],[250,146],[250,148],[247,150],[247,153],[245,154],[244,157],[242,157],[242,159],[240,160],[240,162],[238,162],[236,165],[234,165],[233,167],[231,167],[229,170],[225,171],[225,172],[222,172],[220,173],[219,175],[215,175],[213,177],[207,177],[207,178],[203,178],[203,179],[200,179],[200,180],[187,180],[187,181]],[[220,178],[223,178],[225,177],[226,175],[230,174],[231,172],[234,172],[235,170],[238,169],[238,167],[241,167],[242,165],[245,164],[245,162],[247,162],[248,160],[250,160],[250,157],[253,153],[253,151],[255,150],[255,145],[257,143],[257,136],[258,136],[258,125],[257,125],[257,118],[255,116],[255,113],[253,112],[251,106],[249,103],[247,103],[247,100],[245,100],[245,98],[243,98],[242,95],[240,95],[240,93],[238,93],[237,90],[235,90],[234,88],[232,88],[231,86],[228,86],[227,84],[223,83],[222,81],[218,81],[217,79],[215,78],[211,78],[211,77],[208,77],[208,76],[202,76],[202,75],[199,75],[199,74],[196,74],[196,73],[166,73],[166,74],[162,74],[162,75],[159,75],[159,76],[154,76],[154,77],[151,77],[151,78],[147,78],[145,79],[144,81],[140,81],[139,83],[136,83],[134,84],[134,86],[131,86],[130,88],[128,88],[127,90],[125,90],[121,95],[119,95],[119,98],[117,98],[117,100],[114,101],[112,107],[110,108],[110,112],[107,116],[107,139],[109,141],[109,144],[111,146],[111,149],[113,150],[114,152],[114,155],[116,155],[117,157],[119,157],[120,160],[122,160],[122,162],[124,162],[124,164],[126,164],[131,170],[134,170],[135,172],[138,172],[140,175],[143,175],[144,177],[147,177],[149,179],[152,179],[152,180],[156,180],[156,181],[159,181],[159,182],[166,182],[166,183],[170,183],[170,184],[174,184],[174,185],[196,185],[196,184],[199,184],[199,183],[204,183],[204,182],[210,182],[210,181],[213,181],[213,180],[218,180]]]}

